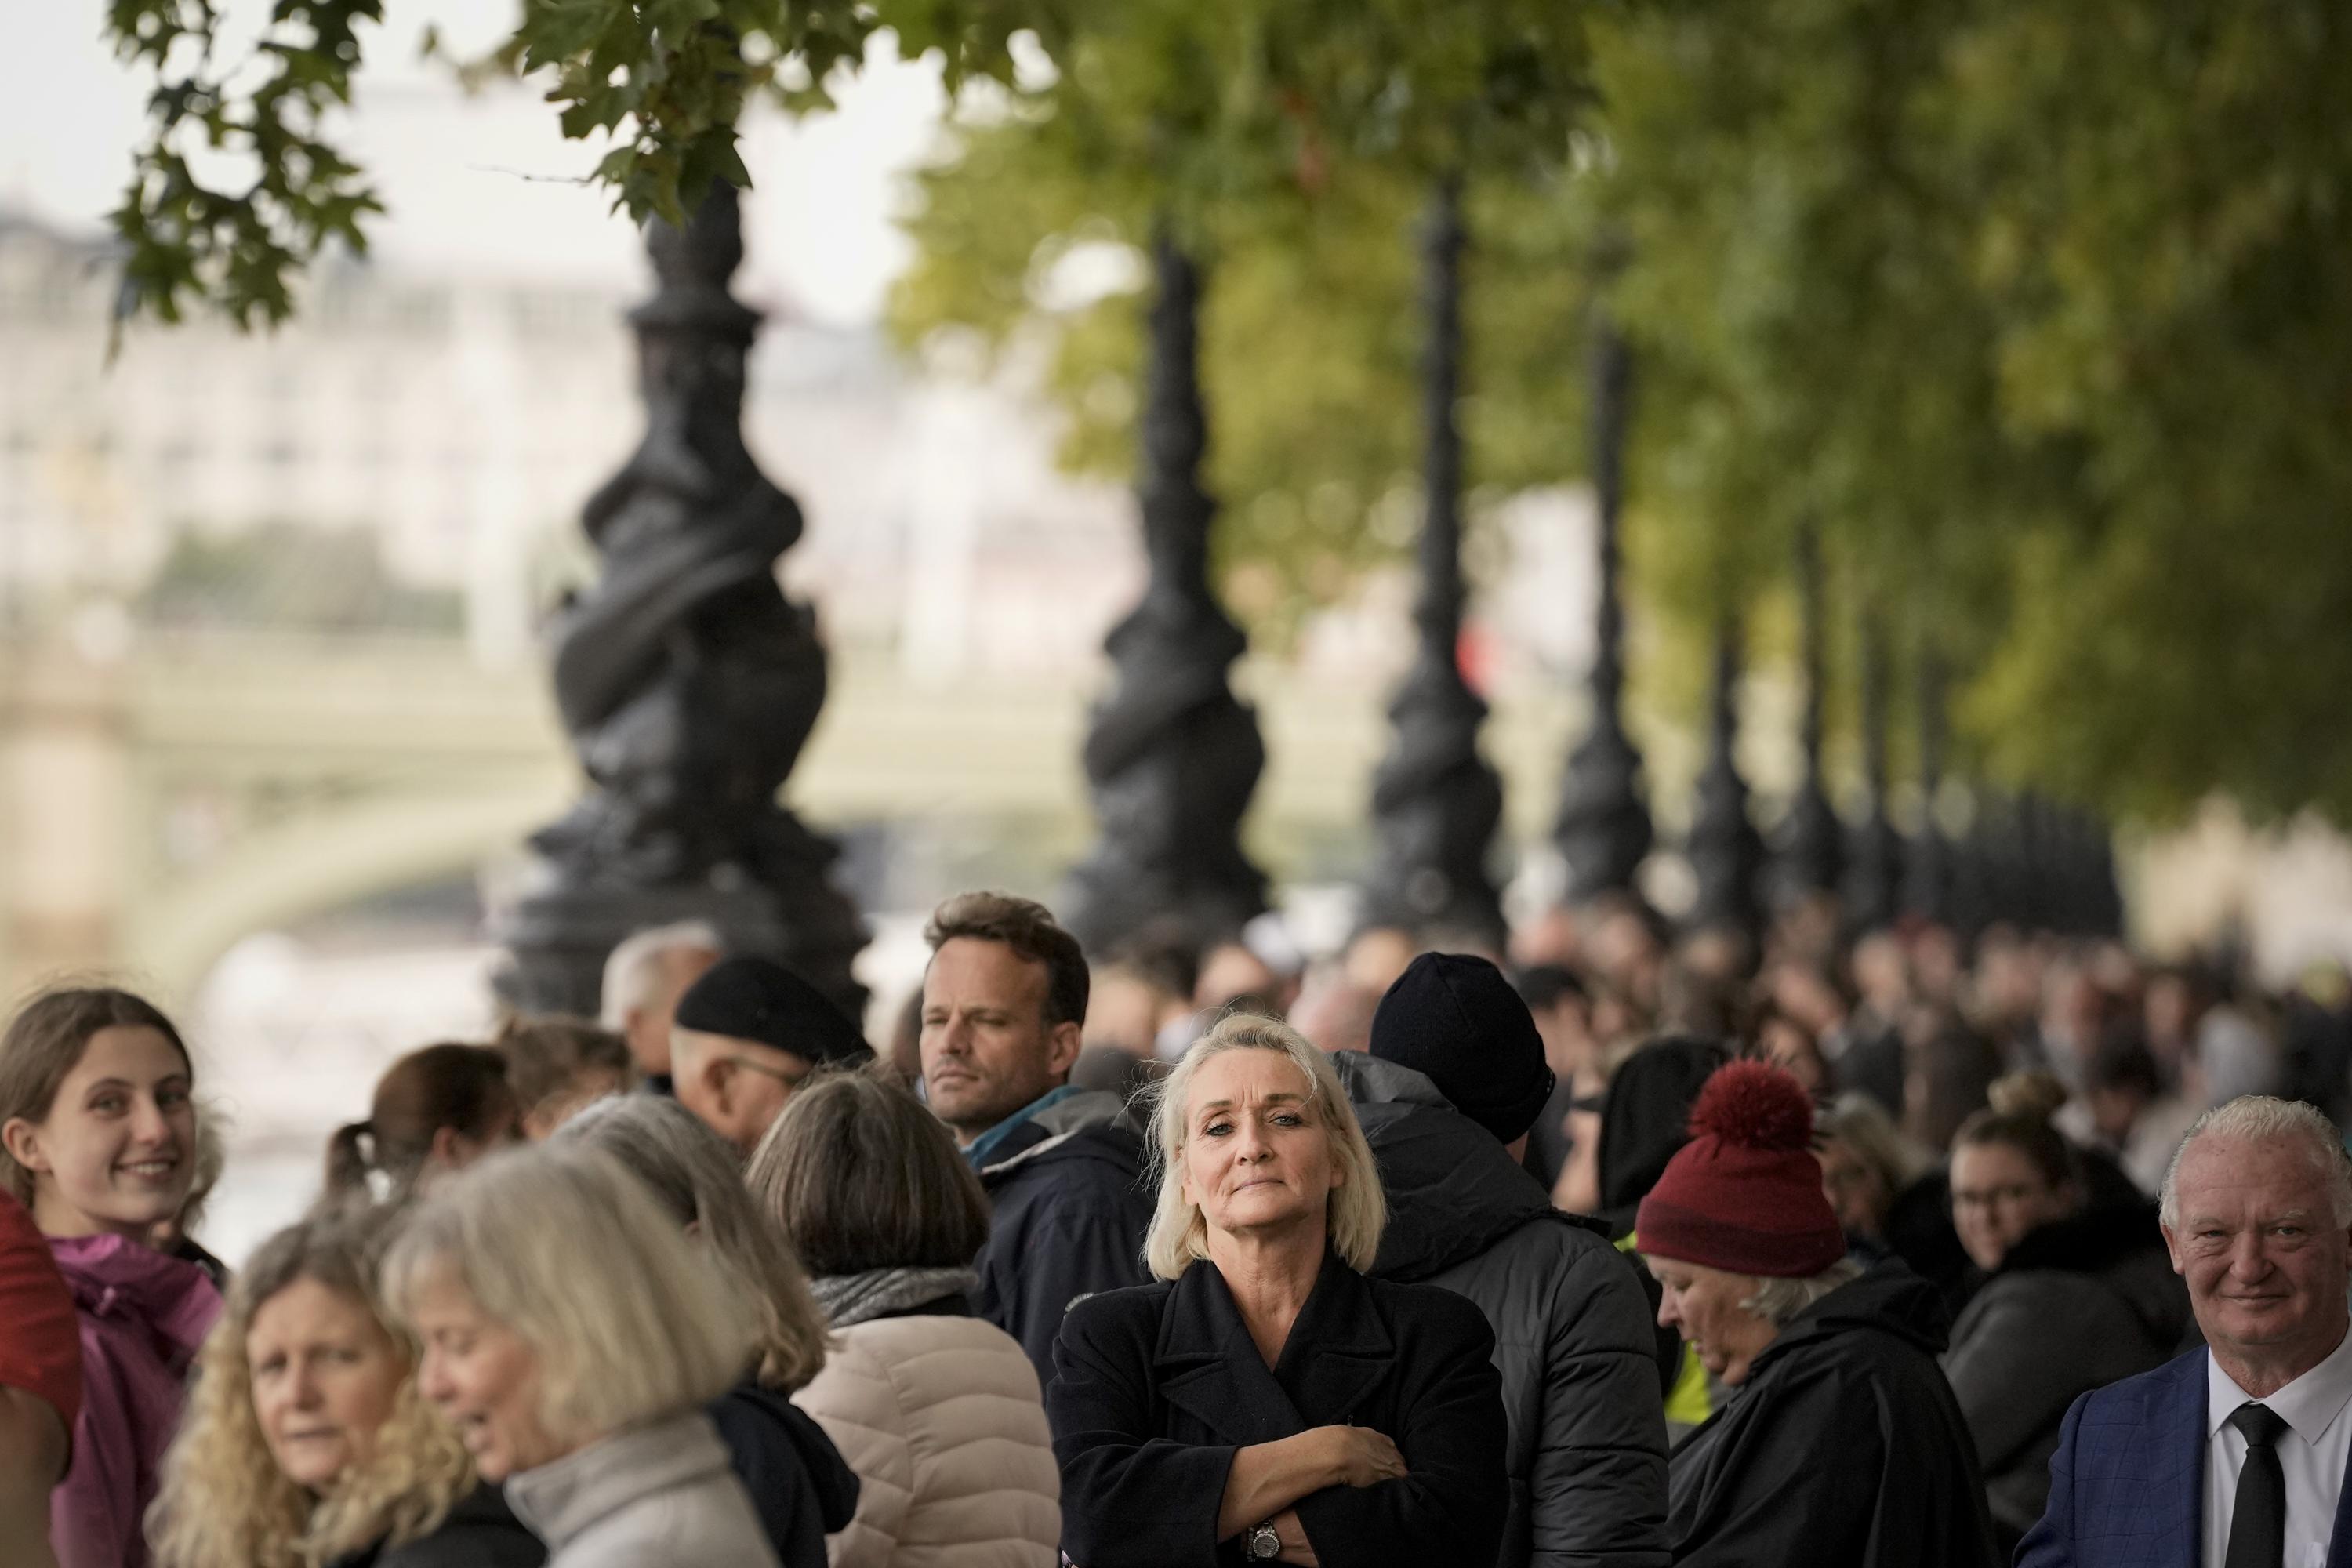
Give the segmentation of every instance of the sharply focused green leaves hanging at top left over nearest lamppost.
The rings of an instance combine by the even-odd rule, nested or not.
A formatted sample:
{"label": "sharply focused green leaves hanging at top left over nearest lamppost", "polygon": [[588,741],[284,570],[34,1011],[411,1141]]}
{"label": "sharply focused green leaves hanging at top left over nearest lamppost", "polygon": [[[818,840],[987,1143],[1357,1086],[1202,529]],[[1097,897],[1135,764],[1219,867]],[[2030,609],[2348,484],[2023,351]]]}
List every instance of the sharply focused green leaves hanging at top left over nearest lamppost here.
{"label": "sharply focused green leaves hanging at top left over nearest lamppost", "polygon": [[[938,49],[950,87],[1009,75],[1018,28],[1058,38],[1028,0],[522,0],[513,35],[475,61],[546,82],[564,136],[607,148],[593,183],[633,221],[684,223],[710,181],[750,183],[736,125],[767,96],[830,106],[889,28],[906,56]],[[275,0],[252,40],[223,38],[221,0],[108,0],[118,54],[158,78],[146,141],[113,226],[127,244],[118,315],[216,306],[238,327],[282,322],[292,282],[332,242],[367,249],[383,212],[329,136],[383,0]],[[428,35],[426,49],[435,42]]]}

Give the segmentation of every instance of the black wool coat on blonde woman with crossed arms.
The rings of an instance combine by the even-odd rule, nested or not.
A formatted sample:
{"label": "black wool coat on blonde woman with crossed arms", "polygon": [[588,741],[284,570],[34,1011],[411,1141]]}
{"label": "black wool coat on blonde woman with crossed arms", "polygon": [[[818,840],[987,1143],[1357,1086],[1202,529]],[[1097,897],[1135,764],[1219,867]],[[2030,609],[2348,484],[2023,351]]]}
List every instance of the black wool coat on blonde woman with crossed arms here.
{"label": "black wool coat on blonde woman with crossed arms", "polygon": [[1211,1262],[1084,1300],[1044,1396],[1061,1547],[1080,1568],[1240,1563],[1242,1540],[1216,1540],[1235,1450],[1355,1425],[1392,1439],[1411,1474],[1298,1500],[1324,1568],[1491,1563],[1510,1507],[1491,1356],[1472,1302],[1331,1253],[1272,1368]]}

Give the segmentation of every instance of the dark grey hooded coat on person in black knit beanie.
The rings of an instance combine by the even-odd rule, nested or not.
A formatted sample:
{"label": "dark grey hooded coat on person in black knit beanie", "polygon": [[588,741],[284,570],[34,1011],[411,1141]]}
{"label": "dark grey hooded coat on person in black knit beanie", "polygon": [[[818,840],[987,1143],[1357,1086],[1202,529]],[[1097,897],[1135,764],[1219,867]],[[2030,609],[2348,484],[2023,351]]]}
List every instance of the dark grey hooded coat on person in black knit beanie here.
{"label": "dark grey hooded coat on person in black knit beanie", "polygon": [[1663,1568],[1658,1340],[1630,1258],[1552,1208],[1428,1077],[1331,1056],[1381,1161],[1374,1279],[1465,1295],[1494,1326],[1510,1418],[1503,1568]]}

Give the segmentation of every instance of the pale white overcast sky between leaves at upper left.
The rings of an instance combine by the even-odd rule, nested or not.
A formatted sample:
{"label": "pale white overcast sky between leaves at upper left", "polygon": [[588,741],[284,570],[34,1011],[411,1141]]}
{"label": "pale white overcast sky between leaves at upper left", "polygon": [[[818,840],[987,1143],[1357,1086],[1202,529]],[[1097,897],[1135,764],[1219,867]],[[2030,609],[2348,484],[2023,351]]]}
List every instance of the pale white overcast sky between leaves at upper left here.
{"label": "pale white overcast sky between leaves at upper left", "polygon": [[[120,197],[153,85],[99,40],[103,9],[9,5],[0,49],[0,205],[68,228],[96,228]],[[230,12],[252,19],[266,5],[233,0]],[[626,219],[607,214],[602,193],[564,183],[597,153],[555,134],[553,106],[529,87],[468,99],[440,66],[416,61],[426,24],[473,52],[510,16],[499,0],[390,0],[386,24],[362,33],[369,59],[339,129],[390,209],[372,230],[376,254],[405,268],[633,280]],[[906,261],[891,226],[898,176],[934,148],[941,106],[936,71],[884,59],[835,115],[793,125],[762,113],[746,127],[750,254],[739,292],[830,322],[873,320]]]}

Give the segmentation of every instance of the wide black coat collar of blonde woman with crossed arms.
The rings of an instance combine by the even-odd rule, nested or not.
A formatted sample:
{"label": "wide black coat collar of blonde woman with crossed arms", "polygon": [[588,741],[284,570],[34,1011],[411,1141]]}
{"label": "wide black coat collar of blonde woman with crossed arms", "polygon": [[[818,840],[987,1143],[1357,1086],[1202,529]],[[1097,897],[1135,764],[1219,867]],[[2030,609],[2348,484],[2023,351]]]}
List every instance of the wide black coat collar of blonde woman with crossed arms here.
{"label": "wide black coat collar of blonde woman with crossed arms", "polygon": [[1160,1394],[1230,1443],[1345,1422],[1397,1359],[1364,1276],[1327,1251],[1272,1368],[1209,1260],[1176,1281],[1152,1349]]}

